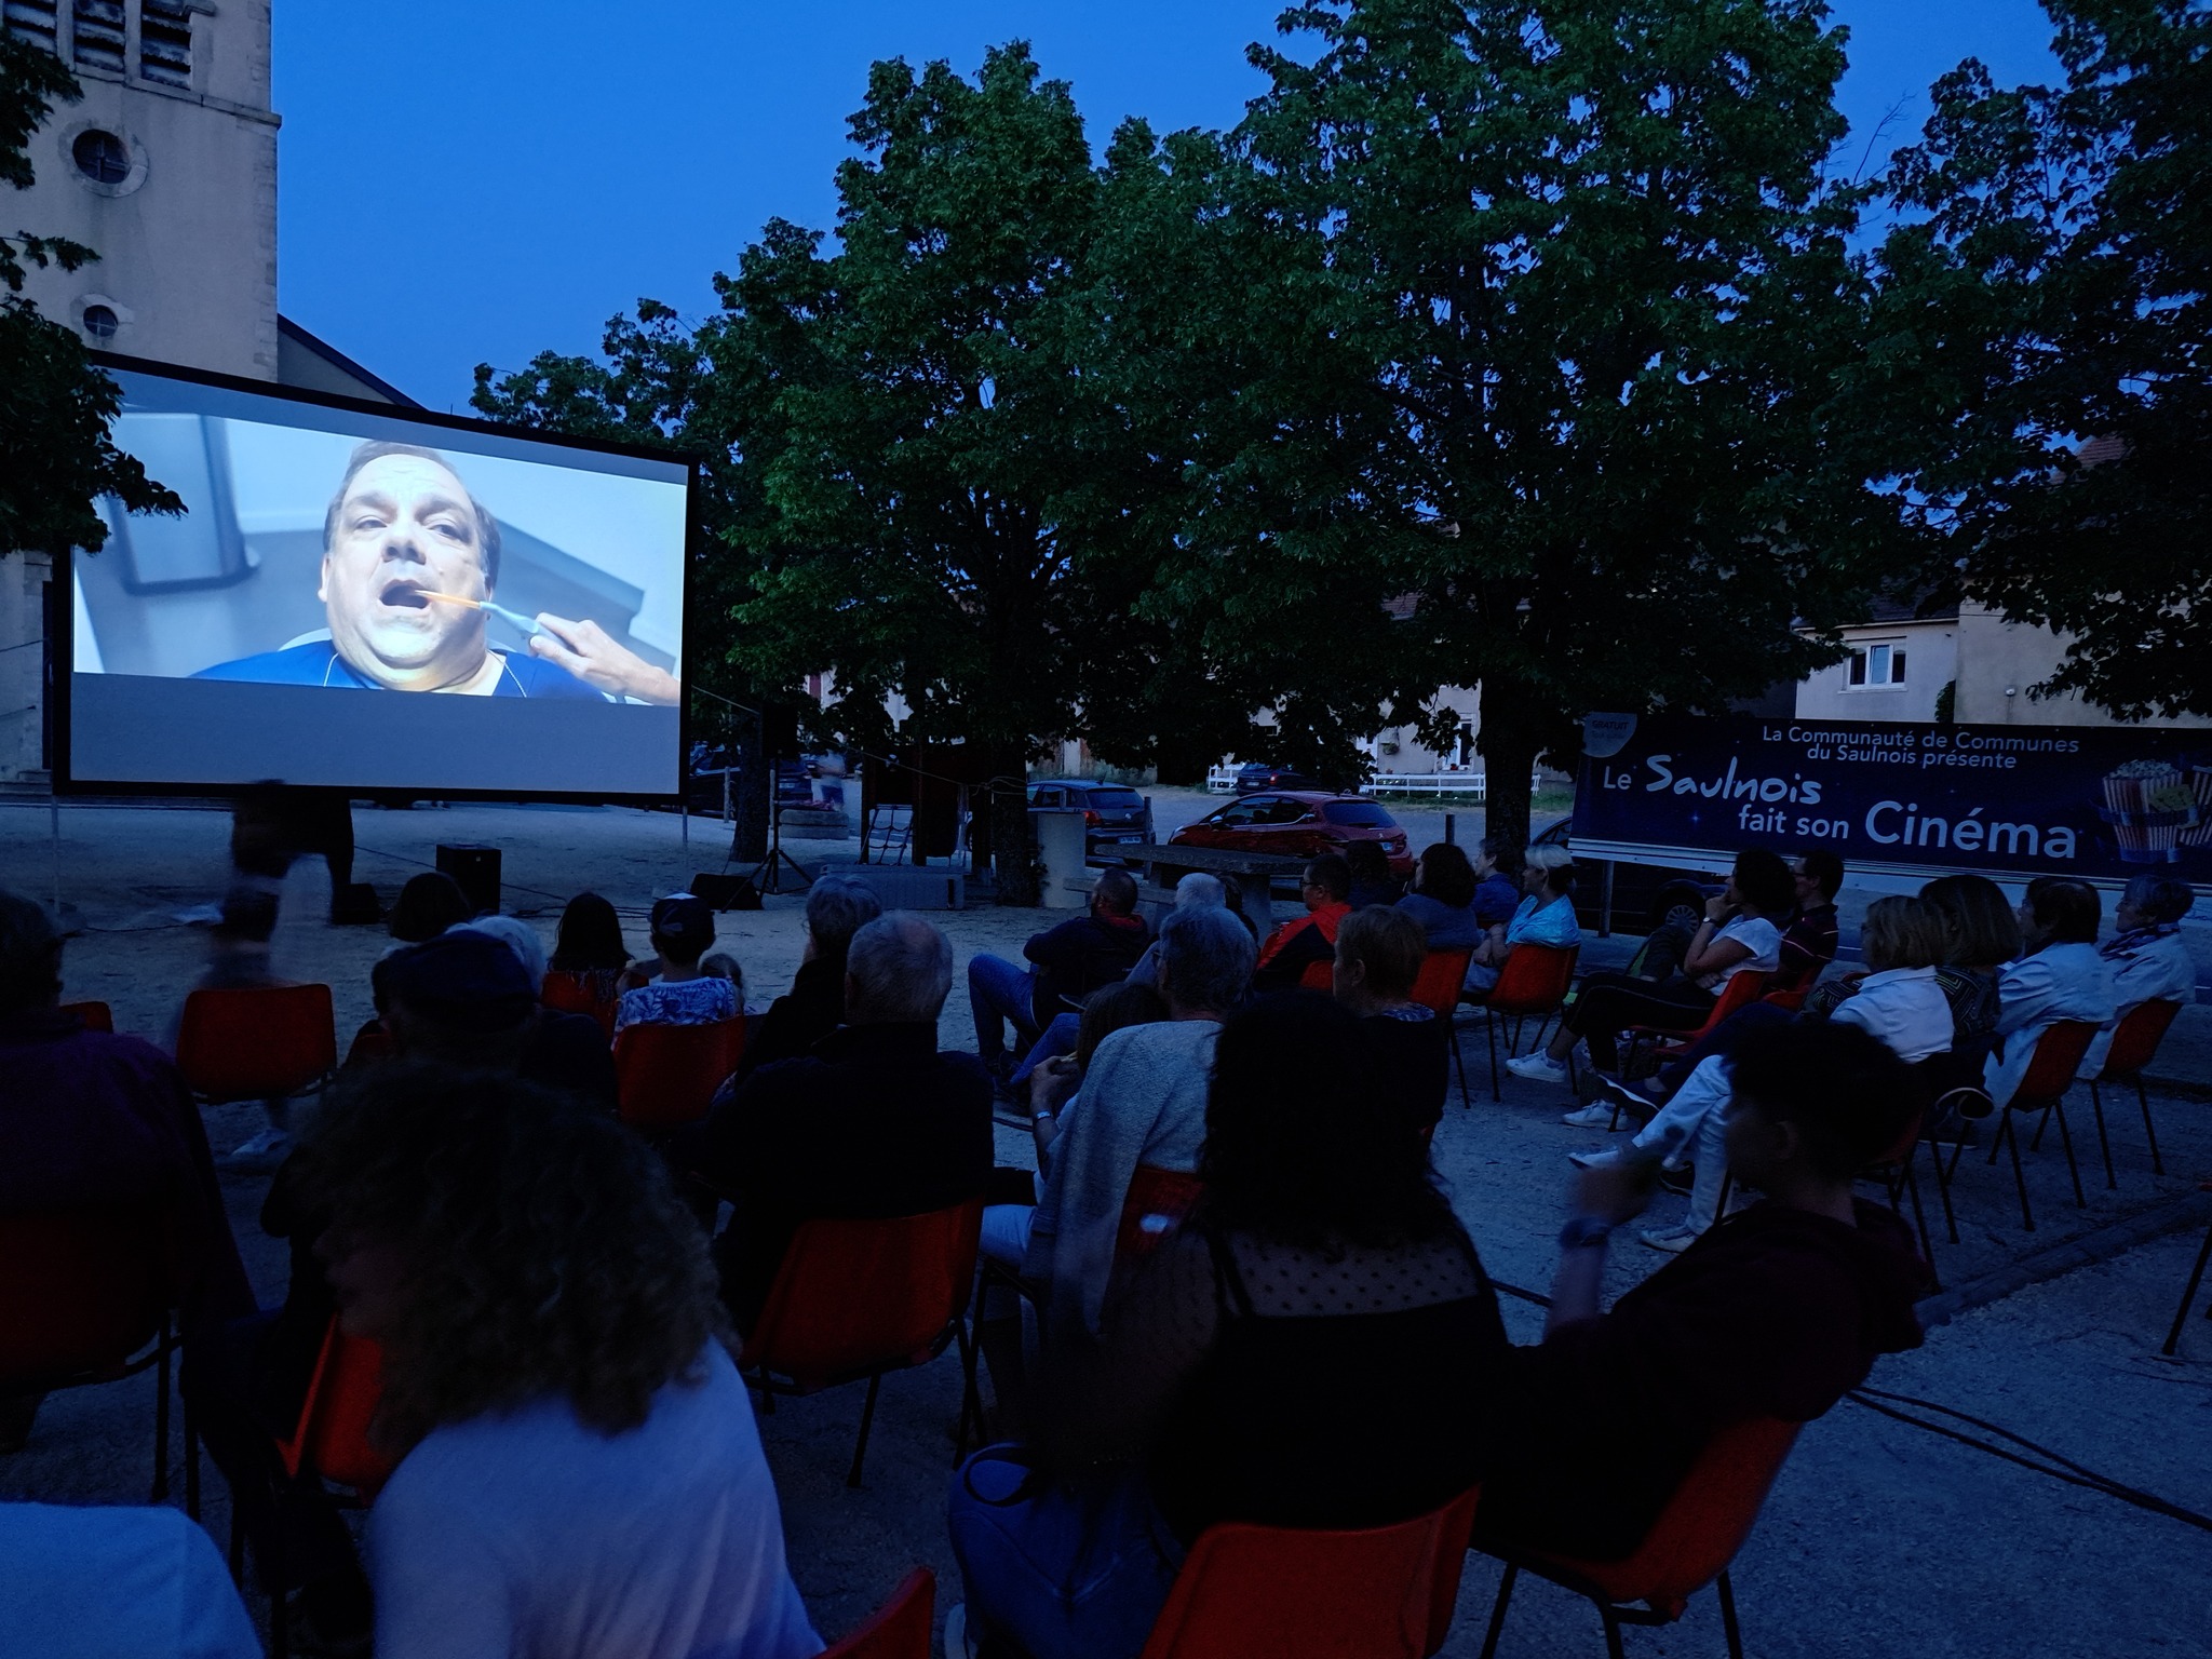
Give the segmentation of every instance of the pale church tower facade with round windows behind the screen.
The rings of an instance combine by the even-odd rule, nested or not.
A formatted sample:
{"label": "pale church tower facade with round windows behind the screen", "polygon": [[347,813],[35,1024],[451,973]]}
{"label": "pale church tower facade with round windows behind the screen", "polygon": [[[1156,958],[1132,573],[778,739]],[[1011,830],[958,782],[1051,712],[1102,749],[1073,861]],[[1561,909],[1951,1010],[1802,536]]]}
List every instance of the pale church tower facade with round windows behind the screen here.
{"label": "pale church tower facade with round windows behind the screen", "polygon": [[[0,27],[84,88],[31,135],[9,230],[100,254],[24,294],[86,345],[383,403],[403,394],[276,314],[270,0],[0,0]],[[0,551],[0,787],[49,776],[49,626],[73,606],[51,560]]]}

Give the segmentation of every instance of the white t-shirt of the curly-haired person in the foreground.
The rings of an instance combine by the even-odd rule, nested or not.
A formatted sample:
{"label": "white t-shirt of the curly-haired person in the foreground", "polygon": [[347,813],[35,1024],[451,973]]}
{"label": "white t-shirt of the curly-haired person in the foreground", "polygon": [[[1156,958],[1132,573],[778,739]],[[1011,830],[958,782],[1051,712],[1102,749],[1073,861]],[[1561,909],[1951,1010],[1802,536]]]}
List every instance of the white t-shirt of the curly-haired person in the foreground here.
{"label": "white t-shirt of the curly-haired person in the foreground", "polygon": [[807,1659],[752,1402],[706,1380],[604,1436],[564,1398],[434,1429],[369,1511],[376,1652],[405,1659]]}

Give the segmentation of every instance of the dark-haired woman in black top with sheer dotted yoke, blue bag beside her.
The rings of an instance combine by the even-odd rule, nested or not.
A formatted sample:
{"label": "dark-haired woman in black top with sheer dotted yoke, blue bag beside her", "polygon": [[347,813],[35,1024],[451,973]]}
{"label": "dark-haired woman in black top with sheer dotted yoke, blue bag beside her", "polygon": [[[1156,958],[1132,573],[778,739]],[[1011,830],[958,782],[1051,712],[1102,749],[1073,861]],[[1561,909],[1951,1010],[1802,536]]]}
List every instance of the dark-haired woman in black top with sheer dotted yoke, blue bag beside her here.
{"label": "dark-haired woman in black top with sheer dotted yoke, blue bag beside her", "polygon": [[1031,1444],[953,1475],[947,1652],[1133,1659],[1208,1526],[1385,1526],[1475,1480],[1498,1298],[1420,1139],[1365,1088],[1352,1015],[1254,1002],[1208,1095],[1192,1219],[1104,1343],[1046,1349]]}

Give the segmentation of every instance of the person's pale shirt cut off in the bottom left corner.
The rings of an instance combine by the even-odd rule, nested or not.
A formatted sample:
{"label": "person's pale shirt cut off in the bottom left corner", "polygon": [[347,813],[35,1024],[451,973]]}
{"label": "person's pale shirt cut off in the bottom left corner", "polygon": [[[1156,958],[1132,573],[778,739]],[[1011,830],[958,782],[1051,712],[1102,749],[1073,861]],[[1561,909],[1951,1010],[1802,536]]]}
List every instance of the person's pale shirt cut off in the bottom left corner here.
{"label": "person's pale shirt cut off in the bottom left corner", "polygon": [[166,1504],[0,1504],[7,1659],[261,1659],[215,1540]]}

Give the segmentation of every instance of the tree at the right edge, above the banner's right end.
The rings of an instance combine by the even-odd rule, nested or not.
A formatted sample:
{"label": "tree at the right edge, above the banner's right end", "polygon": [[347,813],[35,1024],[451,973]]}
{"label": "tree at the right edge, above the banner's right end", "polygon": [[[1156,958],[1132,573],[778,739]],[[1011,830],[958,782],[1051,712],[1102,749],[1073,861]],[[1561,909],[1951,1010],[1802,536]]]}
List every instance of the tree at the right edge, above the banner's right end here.
{"label": "tree at the right edge, above the banner's right end", "polygon": [[1936,84],[1889,186],[1880,327],[1949,591],[2070,635],[2031,695],[2212,714],[2212,9],[2046,0],[2059,88]]}

